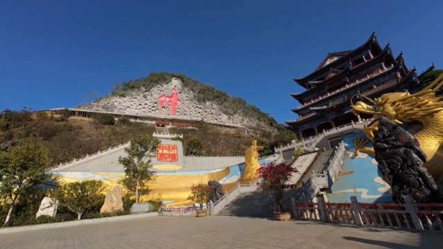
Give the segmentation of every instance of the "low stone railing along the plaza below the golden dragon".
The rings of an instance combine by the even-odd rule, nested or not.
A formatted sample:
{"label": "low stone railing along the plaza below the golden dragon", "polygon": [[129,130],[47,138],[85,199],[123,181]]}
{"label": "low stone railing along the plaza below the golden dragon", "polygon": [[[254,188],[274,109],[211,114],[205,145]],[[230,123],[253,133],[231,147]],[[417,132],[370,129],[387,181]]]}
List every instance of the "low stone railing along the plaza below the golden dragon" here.
{"label": "low stone railing along the plaza below the golden dragon", "polygon": [[327,221],[350,225],[397,228],[405,230],[437,230],[443,232],[443,203],[417,204],[410,196],[405,203],[359,203],[350,196],[350,203],[296,202],[291,199],[295,219]]}

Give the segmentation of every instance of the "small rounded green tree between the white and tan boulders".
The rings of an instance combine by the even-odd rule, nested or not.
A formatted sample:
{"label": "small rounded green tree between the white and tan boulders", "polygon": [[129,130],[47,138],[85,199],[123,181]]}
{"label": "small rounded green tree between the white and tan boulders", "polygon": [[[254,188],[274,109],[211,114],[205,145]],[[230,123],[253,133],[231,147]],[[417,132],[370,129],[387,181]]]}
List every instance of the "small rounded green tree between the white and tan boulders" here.
{"label": "small rounded green tree between the white and tan boulders", "polygon": [[66,183],[55,191],[54,198],[81,219],[83,214],[105,201],[104,188],[103,182],[96,180]]}

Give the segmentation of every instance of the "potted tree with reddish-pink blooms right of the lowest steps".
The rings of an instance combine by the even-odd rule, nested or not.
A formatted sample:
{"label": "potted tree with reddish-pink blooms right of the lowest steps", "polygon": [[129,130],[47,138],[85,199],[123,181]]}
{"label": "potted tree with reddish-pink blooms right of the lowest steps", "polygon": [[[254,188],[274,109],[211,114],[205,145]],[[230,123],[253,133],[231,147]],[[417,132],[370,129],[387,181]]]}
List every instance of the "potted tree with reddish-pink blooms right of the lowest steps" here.
{"label": "potted tree with reddish-pink blooms right of the lowest steps", "polygon": [[284,187],[291,175],[297,172],[291,165],[280,163],[267,165],[257,169],[260,181],[258,187],[264,192],[269,192],[275,197],[274,218],[278,221],[291,219],[291,214],[283,210]]}

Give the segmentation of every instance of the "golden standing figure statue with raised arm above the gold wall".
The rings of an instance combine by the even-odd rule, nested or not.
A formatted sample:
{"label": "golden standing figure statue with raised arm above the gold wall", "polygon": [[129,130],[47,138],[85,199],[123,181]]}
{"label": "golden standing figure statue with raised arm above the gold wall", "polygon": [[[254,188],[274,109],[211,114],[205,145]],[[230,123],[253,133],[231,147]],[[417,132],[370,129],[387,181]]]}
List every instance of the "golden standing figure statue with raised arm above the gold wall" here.
{"label": "golden standing figure statue with raised arm above the gold wall", "polygon": [[257,169],[260,168],[258,158],[260,154],[258,151],[264,149],[262,146],[257,146],[257,140],[252,140],[251,146],[243,146],[244,149],[244,172],[240,181],[250,182],[258,177]]}

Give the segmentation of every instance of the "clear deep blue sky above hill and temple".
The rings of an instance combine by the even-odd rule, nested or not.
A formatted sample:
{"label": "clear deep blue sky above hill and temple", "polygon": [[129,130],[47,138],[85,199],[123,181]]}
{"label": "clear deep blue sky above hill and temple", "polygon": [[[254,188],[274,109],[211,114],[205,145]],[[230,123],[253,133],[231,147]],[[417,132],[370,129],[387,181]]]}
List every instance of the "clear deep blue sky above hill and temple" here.
{"label": "clear deep blue sky above hill and temple", "polygon": [[443,1],[1,1],[0,110],[75,107],[166,71],[284,122],[302,91],[291,79],[373,30],[408,66],[443,68],[442,12]]}

